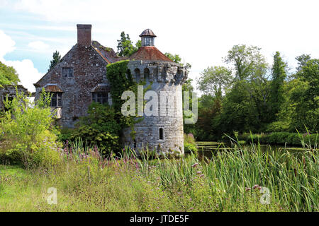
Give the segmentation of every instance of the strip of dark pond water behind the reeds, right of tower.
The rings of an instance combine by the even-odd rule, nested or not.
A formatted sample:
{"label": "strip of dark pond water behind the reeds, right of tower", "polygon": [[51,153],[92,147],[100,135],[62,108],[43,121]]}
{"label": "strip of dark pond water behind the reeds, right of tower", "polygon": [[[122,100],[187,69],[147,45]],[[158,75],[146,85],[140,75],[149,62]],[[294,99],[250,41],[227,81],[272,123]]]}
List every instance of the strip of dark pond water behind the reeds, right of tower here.
{"label": "strip of dark pond water behind the reeds, right of tower", "polygon": [[[208,157],[211,159],[213,155],[216,155],[218,151],[223,150],[235,150],[234,143],[219,143],[214,141],[198,141],[196,142],[198,148],[198,157]],[[257,146],[257,144],[254,144]],[[252,148],[251,144],[240,143],[240,147],[242,148]],[[290,146],[290,145],[269,145],[269,144],[259,144],[260,150],[263,152],[274,150],[274,151],[289,151],[291,153],[299,153],[303,152],[306,149],[302,147]],[[237,146],[238,148],[238,146]],[[257,148],[257,147],[256,147]]]}

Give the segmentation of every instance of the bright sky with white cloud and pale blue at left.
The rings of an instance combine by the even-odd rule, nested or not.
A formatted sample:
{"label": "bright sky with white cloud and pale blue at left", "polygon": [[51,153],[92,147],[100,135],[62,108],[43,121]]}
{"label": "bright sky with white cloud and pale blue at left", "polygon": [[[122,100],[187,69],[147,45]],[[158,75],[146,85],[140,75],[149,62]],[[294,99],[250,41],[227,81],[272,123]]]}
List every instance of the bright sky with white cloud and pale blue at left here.
{"label": "bright sky with white cloud and pale blue at left", "polygon": [[318,8],[318,0],[0,0],[0,61],[34,92],[53,52],[63,57],[77,43],[77,24],[86,23],[92,40],[115,51],[122,31],[135,43],[150,28],[161,52],[191,64],[195,86],[208,66],[227,66],[235,44],[261,48],[270,65],[279,51],[293,71],[295,57],[319,58]]}

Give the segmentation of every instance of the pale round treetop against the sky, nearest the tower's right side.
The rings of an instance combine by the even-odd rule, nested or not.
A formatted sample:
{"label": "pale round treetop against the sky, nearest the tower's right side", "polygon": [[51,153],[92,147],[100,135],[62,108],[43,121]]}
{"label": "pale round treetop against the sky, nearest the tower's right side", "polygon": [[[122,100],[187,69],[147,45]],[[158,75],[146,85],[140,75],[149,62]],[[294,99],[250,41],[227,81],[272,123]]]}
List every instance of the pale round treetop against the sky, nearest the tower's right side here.
{"label": "pale round treetop against the sky, nearest the tower's right side", "polygon": [[233,82],[232,71],[224,66],[208,66],[198,78],[198,90],[217,96]]}

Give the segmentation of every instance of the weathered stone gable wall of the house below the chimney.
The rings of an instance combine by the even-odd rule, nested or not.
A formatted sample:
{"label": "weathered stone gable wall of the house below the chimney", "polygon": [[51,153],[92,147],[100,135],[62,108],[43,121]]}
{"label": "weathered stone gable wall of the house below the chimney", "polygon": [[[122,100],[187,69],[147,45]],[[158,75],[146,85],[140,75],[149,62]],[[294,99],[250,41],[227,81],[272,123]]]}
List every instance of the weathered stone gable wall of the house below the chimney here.
{"label": "weathered stone gable wall of the house below the chimney", "polygon": [[[108,86],[106,64],[94,47],[76,44],[51,71],[35,83],[35,100],[43,88],[56,85],[62,90],[62,114],[58,123],[74,127],[77,119],[86,115],[92,102],[91,91],[99,84]],[[62,76],[62,68],[73,68],[73,77]]]}

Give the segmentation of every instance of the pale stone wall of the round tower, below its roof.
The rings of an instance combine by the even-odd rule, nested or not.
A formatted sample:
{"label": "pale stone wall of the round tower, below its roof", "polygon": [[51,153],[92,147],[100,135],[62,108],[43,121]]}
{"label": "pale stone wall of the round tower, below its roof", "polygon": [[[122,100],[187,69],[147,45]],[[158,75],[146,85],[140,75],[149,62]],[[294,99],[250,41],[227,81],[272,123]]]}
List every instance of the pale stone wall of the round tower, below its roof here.
{"label": "pale stone wall of the round tower, below its roof", "polygon": [[[187,78],[186,69],[178,64],[167,61],[130,61],[128,68],[136,79],[136,69],[140,71],[140,79],[151,85],[151,89],[158,96],[158,115],[146,116],[143,120],[135,124],[135,141],[130,136],[131,129],[123,130],[123,143],[133,148],[145,148],[148,146],[151,150],[157,152],[177,150],[184,153],[184,131],[182,114],[182,96],[181,85]],[[145,70],[148,69],[148,70]],[[147,71],[145,78],[144,71]],[[149,71],[149,73],[148,73]],[[161,111],[161,92],[170,92],[174,95],[174,100],[166,105],[166,114]],[[170,96],[172,97],[172,96]],[[166,103],[167,100],[164,100]],[[159,129],[163,129],[163,139],[159,139]]]}

